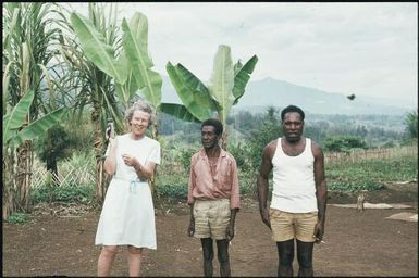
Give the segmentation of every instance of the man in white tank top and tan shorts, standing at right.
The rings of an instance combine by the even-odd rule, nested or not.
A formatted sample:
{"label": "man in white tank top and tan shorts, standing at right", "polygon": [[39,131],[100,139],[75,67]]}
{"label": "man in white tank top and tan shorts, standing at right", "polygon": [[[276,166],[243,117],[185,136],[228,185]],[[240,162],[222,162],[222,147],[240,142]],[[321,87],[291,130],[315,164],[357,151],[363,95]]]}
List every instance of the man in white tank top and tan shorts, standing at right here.
{"label": "man in white tank top and tan shorts, standing at right", "polygon": [[[258,175],[258,199],[262,222],[276,242],[279,277],[293,276],[294,239],[297,241],[298,276],[313,276],[313,243],[324,233],[328,187],[321,148],[303,137],[304,111],[288,105],[281,112],[284,138],[264,147]],[[269,174],[273,190],[268,207]]]}

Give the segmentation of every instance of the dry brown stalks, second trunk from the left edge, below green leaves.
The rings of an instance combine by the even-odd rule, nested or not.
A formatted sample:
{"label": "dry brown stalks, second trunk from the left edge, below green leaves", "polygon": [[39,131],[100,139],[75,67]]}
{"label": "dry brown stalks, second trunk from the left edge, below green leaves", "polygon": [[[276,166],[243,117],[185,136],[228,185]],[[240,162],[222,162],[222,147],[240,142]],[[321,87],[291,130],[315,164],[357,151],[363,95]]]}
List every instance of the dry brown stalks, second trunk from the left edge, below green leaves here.
{"label": "dry brown stalks, second trunk from the left edge, below green leaves", "polygon": [[34,163],[33,143],[25,141],[17,150],[16,189],[19,192],[17,207],[30,212],[32,166]]}

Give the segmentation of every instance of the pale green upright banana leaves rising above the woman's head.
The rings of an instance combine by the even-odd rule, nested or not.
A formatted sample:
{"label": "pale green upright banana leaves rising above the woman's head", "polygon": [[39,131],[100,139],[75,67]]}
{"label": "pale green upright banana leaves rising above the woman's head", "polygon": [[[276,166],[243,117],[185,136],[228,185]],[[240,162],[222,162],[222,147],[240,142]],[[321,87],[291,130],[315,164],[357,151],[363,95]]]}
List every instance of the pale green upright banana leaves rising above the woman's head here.
{"label": "pale green upright banana leaves rising above the woman's head", "polygon": [[[153,64],[147,49],[147,17],[136,12],[130,23],[123,18],[123,48],[118,58],[116,49],[107,43],[89,18],[73,12],[70,20],[87,59],[114,78],[114,96],[123,109],[128,106],[136,94],[143,94],[155,111],[158,110],[161,102],[162,79],[158,73],[150,70]],[[122,114],[113,113],[112,116],[122,127]]]}

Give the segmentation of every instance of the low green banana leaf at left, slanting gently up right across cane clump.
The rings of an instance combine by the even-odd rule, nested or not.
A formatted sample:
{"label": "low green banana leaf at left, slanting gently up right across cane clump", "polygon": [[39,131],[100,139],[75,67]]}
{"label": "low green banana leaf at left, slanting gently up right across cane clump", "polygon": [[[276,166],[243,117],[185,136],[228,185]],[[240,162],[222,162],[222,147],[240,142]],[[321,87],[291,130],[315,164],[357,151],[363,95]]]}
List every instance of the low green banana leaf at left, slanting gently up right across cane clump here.
{"label": "low green banana leaf at left, slanting gently up right across cane clump", "polygon": [[35,139],[45,134],[50,127],[61,122],[65,112],[66,110],[61,108],[30,123],[11,139],[11,143],[19,146],[26,140]]}

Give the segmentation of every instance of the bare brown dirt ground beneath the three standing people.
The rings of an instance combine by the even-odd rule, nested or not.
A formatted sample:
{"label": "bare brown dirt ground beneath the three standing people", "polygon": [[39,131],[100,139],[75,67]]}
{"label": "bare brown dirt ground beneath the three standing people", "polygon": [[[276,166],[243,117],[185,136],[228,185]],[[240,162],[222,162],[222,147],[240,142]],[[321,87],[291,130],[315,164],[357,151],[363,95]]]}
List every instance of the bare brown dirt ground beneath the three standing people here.
{"label": "bare brown dirt ground beneath the three standing people", "polygon": [[[385,218],[400,212],[417,213],[417,184],[402,191],[411,193],[403,201],[414,208],[367,210],[360,214],[329,205],[325,243],[315,247],[315,275],[417,276],[418,223]],[[331,194],[330,203],[343,203],[345,198],[354,197]],[[96,276],[98,218],[99,212],[93,211],[78,216],[33,216],[25,225],[3,224],[3,276]],[[143,275],[202,276],[200,243],[186,236],[187,205],[161,207],[156,222],[158,249],[145,252]],[[276,249],[255,201],[244,202],[236,229],[230,252],[232,275],[275,276]],[[125,252],[122,249],[118,254],[112,275],[127,276]],[[219,276],[217,258],[214,276]]]}

